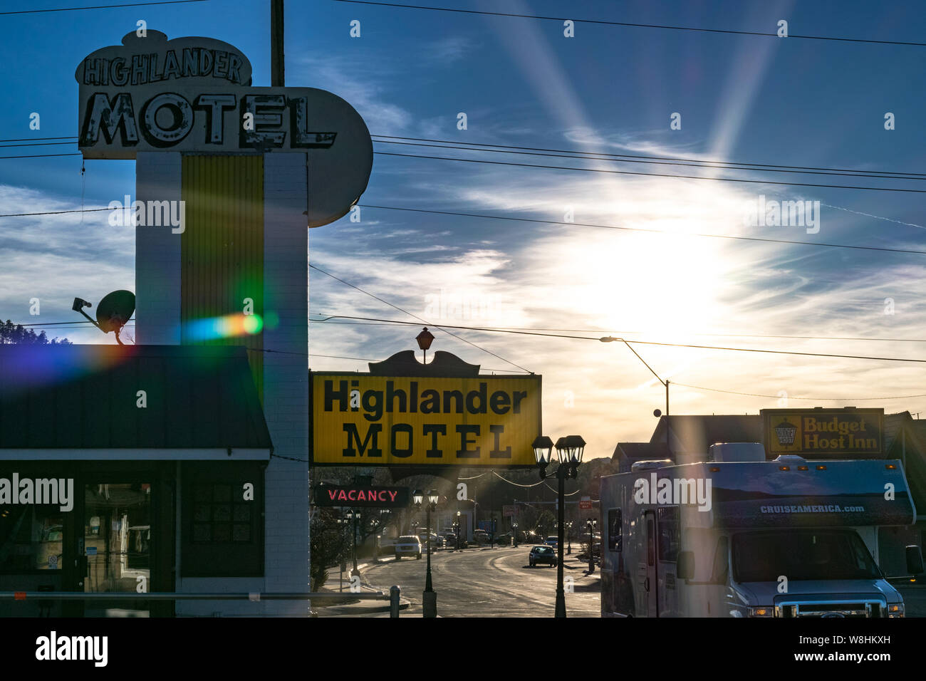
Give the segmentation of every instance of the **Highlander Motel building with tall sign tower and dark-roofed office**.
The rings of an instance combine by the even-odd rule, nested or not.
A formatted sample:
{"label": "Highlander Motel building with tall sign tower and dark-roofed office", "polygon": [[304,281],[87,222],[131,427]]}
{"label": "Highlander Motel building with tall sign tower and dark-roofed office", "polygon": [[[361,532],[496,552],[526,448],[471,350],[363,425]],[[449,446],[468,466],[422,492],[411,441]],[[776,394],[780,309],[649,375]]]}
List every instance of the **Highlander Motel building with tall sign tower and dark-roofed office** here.
{"label": "Highlander Motel building with tall sign tower and dark-roofed office", "polygon": [[[0,346],[0,591],[88,595],[0,616],[306,616],[259,595],[308,592],[307,228],[365,190],[369,131],[210,38],[78,61],[88,170],[134,159],[165,221],[125,227],[134,345]],[[150,592],[244,598],[93,599]]]}

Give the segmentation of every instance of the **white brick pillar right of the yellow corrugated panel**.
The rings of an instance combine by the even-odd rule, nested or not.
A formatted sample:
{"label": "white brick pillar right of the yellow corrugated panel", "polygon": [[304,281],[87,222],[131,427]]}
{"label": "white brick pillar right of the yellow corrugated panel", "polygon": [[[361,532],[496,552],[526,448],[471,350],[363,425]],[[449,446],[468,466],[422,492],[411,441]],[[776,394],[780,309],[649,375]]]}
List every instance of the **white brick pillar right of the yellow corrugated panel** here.
{"label": "white brick pillar right of the yellow corrugated panel", "polygon": [[[265,475],[267,591],[308,591],[307,156],[264,155],[264,411],[274,453]],[[268,614],[305,615],[305,601],[268,601]]]}

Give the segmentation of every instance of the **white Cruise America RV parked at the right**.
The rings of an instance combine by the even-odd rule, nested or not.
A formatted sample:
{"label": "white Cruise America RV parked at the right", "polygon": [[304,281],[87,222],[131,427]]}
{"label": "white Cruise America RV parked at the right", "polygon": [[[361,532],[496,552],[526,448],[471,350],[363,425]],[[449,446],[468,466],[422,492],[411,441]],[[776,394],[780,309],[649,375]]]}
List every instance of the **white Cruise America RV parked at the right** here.
{"label": "white Cruise America RV parked at the right", "polygon": [[904,616],[877,540],[916,522],[899,460],[766,460],[756,443],[706,459],[601,478],[602,616]]}

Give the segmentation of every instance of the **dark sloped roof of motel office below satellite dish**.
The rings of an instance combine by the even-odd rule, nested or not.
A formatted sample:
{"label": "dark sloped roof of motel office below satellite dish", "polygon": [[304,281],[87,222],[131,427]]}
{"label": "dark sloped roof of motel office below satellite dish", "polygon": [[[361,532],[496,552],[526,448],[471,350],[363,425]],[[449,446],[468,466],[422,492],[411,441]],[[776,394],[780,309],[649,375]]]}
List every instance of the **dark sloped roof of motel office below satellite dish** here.
{"label": "dark sloped roof of motel office below satellite dish", "polygon": [[0,449],[270,448],[253,367],[241,347],[3,345]]}

